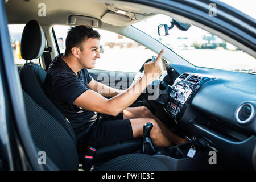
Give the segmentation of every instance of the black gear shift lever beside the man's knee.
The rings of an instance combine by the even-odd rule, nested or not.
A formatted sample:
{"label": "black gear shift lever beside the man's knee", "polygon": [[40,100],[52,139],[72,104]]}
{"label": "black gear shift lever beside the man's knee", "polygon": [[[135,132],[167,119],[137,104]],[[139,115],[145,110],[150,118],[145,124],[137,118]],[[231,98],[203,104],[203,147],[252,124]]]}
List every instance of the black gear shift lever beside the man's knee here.
{"label": "black gear shift lever beside the man's knee", "polygon": [[142,153],[144,154],[150,155],[156,152],[150,137],[150,131],[152,127],[153,127],[152,123],[144,123],[144,126],[143,126],[144,139],[143,139],[143,145],[142,145]]}

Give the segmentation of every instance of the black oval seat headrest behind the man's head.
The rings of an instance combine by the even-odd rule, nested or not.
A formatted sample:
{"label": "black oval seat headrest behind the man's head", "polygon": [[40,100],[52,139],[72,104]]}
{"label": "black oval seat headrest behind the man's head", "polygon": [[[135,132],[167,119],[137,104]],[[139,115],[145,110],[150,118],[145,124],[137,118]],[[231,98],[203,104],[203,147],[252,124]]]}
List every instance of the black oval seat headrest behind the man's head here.
{"label": "black oval seat headrest behind the man's head", "polygon": [[21,56],[25,60],[32,60],[42,56],[46,38],[44,31],[36,20],[30,20],[24,27],[20,42]]}

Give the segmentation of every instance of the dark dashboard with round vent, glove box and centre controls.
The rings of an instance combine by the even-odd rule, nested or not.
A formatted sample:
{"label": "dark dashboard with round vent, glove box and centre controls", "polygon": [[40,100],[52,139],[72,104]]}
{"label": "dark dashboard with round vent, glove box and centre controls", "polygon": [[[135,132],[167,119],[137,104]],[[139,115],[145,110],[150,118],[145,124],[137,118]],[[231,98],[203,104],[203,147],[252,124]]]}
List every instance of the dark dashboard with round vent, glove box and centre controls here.
{"label": "dark dashboard with round vent, glove box and centre controls", "polygon": [[166,64],[159,103],[233,168],[256,169],[256,75]]}

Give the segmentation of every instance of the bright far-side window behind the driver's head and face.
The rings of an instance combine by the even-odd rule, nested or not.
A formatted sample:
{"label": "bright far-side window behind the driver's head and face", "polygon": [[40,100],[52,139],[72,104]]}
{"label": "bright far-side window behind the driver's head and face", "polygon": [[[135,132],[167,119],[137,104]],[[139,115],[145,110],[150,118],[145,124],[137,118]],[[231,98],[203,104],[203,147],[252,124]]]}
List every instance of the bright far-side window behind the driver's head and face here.
{"label": "bright far-side window behind the driver's head and face", "polygon": [[[65,51],[65,38],[70,26],[54,26],[60,53]],[[96,29],[96,28],[95,28]],[[138,72],[144,62],[156,53],[124,36],[110,31],[98,30],[100,35],[101,58],[96,60],[94,69]]]}

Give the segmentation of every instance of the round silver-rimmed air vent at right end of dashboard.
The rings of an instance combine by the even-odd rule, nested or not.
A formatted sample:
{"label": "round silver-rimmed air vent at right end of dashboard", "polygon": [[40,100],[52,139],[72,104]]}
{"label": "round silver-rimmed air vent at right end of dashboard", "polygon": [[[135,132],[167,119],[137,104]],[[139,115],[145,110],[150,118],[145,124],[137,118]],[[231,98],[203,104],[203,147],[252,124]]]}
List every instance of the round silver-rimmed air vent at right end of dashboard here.
{"label": "round silver-rimmed air vent at right end of dashboard", "polygon": [[236,111],[236,119],[240,124],[250,122],[254,115],[254,107],[252,104],[246,102],[238,107]]}

